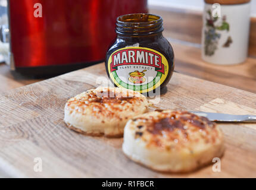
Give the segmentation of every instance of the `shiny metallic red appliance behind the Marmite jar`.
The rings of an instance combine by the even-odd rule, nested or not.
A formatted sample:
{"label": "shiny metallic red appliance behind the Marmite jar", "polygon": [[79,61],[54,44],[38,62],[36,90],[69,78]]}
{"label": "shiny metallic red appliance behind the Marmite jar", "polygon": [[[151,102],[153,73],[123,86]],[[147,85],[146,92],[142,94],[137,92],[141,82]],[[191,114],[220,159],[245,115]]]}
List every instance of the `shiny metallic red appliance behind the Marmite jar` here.
{"label": "shiny metallic red appliance behind the Marmite jar", "polygon": [[[35,17],[35,4],[42,17]],[[119,15],[147,12],[146,0],[8,0],[11,68],[56,74],[104,61]]]}

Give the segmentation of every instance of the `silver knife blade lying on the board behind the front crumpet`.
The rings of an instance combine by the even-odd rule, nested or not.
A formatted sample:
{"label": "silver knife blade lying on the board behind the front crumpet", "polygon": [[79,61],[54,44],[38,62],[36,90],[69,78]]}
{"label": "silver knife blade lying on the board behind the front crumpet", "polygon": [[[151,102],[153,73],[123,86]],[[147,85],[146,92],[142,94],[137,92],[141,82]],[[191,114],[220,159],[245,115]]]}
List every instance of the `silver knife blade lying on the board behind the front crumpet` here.
{"label": "silver knife blade lying on the board behind the front crumpet", "polygon": [[191,112],[198,116],[204,116],[214,122],[249,122],[256,123],[256,115],[231,115],[226,113]]}

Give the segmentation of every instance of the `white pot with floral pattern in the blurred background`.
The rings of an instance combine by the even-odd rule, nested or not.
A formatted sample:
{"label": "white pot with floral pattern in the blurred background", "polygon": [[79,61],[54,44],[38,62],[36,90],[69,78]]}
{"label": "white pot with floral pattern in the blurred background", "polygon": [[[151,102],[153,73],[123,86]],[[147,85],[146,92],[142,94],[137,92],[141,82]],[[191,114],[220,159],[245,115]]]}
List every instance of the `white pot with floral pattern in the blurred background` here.
{"label": "white pot with floral pattern in the blurred background", "polygon": [[250,0],[205,0],[202,59],[231,65],[248,55]]}

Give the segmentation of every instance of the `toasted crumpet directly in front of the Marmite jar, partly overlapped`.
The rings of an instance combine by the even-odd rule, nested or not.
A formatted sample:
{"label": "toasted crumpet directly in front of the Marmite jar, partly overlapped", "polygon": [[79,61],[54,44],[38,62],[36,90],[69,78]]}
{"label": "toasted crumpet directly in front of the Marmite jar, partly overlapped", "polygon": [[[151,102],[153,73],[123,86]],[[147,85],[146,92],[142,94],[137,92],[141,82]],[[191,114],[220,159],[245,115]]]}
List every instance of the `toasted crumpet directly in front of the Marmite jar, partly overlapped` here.
{"label": "toasted crumpet directly in front of the Marmite jar, partly overlapped", "polygon": [[148,110],[148,100],[124,88],[98,87],[71,98],[65,105],[64,121],[86,135],[120,137],[126,122]]}

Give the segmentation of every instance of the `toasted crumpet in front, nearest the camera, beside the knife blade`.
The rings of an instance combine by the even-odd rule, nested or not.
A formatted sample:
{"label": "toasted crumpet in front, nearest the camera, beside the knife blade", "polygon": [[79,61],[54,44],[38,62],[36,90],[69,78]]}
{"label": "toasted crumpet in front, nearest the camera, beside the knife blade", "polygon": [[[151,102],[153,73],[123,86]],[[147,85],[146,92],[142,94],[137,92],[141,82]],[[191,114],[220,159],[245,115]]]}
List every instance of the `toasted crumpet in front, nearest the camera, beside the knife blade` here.
{"label": "toasted crumpet in front, nearest the camera, beside the knife blade", "polygon": [[189,112],[157,110],[130,119],[124,128],[124,154],[153,170],[190,172],[223,151],[218,126]]}

